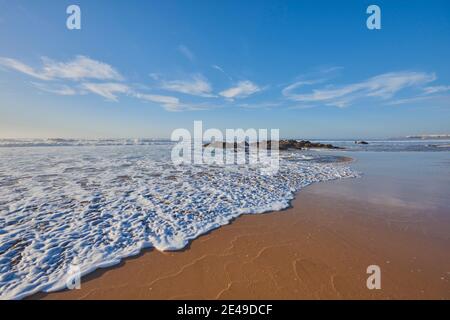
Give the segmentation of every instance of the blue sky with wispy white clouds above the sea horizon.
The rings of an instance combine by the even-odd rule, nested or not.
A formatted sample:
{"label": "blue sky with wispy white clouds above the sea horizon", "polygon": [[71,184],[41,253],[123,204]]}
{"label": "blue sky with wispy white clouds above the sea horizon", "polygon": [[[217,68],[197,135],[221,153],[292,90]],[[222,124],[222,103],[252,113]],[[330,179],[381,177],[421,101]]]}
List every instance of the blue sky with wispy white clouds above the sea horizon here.
{"label": "blue sky with wispy white clouds above the sea horizon", "polygon": [[450,133],[449,40],[445,0],[0,0],[0,138]]}

